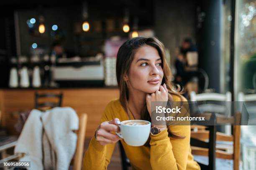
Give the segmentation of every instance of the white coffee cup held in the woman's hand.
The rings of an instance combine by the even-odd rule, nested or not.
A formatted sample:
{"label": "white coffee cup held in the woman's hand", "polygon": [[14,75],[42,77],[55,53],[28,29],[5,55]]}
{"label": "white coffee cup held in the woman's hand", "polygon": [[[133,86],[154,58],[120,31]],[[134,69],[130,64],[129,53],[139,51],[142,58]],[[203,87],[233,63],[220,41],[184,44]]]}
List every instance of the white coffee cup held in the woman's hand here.
{"label": "white coffee cup held in the woman's hand", "polygon": [[148,140],[151,122],[146,120],[125,120],[119,125],[120,133],[116,133],[123,138],[125,143],[131,146],[143,146]]}

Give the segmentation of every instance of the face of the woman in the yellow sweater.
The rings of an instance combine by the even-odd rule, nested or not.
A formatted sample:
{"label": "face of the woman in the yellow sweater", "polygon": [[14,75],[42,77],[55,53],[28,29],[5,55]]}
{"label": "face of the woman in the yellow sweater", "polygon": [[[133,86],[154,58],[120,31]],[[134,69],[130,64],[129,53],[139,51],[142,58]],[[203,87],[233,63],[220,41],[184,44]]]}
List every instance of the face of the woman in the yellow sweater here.
{"label": "face of the woman in the yellow sweater", "polygon": [[149,45],[140,47],[134,55],[130,71],[126,76],[129,90],[133,88],[146,93],[159,90],[164,76],[161,65],[161,57],[156,48]]}

